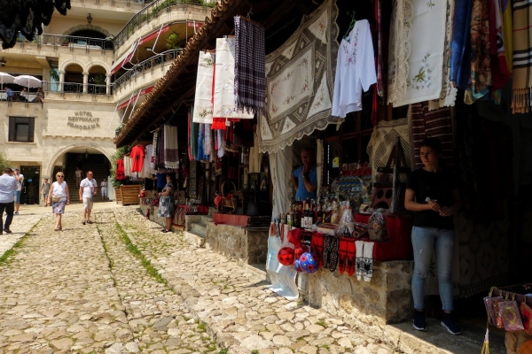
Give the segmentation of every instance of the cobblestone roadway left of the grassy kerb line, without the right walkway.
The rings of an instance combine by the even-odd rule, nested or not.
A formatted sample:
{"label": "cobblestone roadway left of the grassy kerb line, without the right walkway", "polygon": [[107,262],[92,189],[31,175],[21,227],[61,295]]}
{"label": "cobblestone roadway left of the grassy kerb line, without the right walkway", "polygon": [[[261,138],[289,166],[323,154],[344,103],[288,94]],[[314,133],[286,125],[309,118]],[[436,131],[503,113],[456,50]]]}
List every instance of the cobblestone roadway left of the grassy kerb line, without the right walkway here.
{"label": "cobblestone roadway left of the grassy kerb line, without the right walkway", "polygon": [[100,222],[67,213],[54,232],[45,215],[0,264],[0,352],[217,352],[114,220]]}

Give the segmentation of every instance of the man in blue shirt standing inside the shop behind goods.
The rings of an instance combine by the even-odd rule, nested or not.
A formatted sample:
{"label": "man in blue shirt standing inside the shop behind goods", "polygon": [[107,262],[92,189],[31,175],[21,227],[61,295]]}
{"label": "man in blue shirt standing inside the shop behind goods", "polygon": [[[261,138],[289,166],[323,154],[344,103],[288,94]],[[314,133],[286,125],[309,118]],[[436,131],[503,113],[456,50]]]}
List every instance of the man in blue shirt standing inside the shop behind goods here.
{"label": "man in blue shirt standing inside the shop behind goods", "polygon": [[316,199],[317,189],[317,171],[314,150],[305,148],[301,150],[302,166],[293,170],[290,175],[292,178],[293,189],[295,190],[295,201],[304,202],[309,199]]}

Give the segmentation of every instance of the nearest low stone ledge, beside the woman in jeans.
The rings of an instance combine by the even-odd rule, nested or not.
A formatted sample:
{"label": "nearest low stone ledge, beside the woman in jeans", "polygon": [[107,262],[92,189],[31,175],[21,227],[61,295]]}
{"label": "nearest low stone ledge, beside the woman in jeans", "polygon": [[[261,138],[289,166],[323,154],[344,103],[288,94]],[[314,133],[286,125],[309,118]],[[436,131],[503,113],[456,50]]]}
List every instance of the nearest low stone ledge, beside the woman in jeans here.
{"label": "nearest low stone ledge, beside the woman in jeans", "polygon": [[320,269],[309,274],[309,304],[356,327],[385,327],[411,317],[412,261],[375,262],[372,281]]}

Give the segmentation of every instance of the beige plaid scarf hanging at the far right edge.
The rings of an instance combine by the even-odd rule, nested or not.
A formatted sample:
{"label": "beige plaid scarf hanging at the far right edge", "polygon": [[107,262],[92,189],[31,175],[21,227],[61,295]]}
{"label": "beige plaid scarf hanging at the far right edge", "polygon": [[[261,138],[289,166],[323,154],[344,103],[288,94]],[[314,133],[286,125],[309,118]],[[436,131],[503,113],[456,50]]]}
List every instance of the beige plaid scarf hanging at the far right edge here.
{"label": "beige plaid scarf hanging at the far right edge", "polygon": [[532,88],[532,3],[513,3],[512,112],[530,112]]}

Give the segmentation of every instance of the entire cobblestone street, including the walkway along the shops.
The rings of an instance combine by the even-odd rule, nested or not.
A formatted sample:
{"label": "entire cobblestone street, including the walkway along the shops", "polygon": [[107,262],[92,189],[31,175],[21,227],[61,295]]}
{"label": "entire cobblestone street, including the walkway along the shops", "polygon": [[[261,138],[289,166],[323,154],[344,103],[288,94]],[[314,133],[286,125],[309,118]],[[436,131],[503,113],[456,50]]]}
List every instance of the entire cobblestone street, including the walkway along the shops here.
{"label": "entire cobblestone street, including the walkway along the shops", "polygon": [[22,214],[0,236],[0,254],[19,239],[0,262],[0,352],[394,353],[135,207],[92,219],[67,212],[54,232]]}

